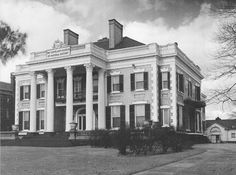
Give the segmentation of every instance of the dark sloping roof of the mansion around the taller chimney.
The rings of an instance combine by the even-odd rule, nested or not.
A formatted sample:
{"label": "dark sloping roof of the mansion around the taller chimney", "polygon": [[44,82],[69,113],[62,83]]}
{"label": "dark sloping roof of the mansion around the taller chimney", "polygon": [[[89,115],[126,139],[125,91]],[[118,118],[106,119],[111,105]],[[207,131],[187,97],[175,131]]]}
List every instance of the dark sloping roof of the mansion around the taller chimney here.
{"label": "dark sloping roof of the mansion around the taller chimney", "polygon": [[103,38],[98,40],[97,42],[94,42],[96,46],[103,48],[105,50],[114,50],[114,49],[122,49],[122,48],[127,48],[127,47],[135,47],[135,46],[142,46],[145,45],[139,41],[136,41],[134,39],[131,39],[129,37],[123,37],[122,41],[115,46],[115,48],[110,49],[109,48],[109,39],[108,38]]}

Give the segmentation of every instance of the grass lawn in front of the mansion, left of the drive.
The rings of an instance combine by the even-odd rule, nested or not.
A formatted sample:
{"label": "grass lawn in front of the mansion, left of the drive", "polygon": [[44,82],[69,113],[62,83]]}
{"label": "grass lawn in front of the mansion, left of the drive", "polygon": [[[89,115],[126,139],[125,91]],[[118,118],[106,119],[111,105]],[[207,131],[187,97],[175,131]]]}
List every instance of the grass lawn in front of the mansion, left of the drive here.
{"label": "grass lawn in front of the mansion, left of the drive", "polygon": [[190,149],[155,156],[121,156],[116,149],[89,146],[0,148],[4,175],[130,174],[204,152]]}

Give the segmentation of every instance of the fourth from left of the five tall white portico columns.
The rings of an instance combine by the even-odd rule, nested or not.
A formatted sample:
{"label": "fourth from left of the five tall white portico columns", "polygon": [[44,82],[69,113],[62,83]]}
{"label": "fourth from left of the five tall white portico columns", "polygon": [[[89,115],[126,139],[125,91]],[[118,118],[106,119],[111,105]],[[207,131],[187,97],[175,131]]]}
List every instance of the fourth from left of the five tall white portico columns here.
{"label": "fourth from left of the five tall white portico columns", "polygon": [[86,130],[93,129],[93,64],[86,67]]}

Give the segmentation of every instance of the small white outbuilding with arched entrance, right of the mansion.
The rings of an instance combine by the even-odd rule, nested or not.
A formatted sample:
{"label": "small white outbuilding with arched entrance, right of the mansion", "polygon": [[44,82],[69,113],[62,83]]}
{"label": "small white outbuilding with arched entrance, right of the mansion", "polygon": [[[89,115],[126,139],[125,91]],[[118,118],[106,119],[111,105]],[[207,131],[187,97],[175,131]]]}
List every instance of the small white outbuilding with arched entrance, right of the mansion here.
{"label": "small white outbuilding with arched entrance, right of the mansion", "polygon": [[206,131],[211,143],[235,142],[236,143],[236,120],[206,120]]}

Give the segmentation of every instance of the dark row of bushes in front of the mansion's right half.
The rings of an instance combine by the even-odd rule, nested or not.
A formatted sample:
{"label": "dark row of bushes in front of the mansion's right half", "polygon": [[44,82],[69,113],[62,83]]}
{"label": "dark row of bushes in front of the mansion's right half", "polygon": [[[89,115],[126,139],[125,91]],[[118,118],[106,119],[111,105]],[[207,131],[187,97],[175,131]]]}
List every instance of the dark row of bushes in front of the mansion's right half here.
{"label": "dark row of bushes in front of the mansion's right half", "polygon": [[117,148],[122,155],[179,152],[191,148],[193,144],[207,142],[204,136],[177,133],[173,128],[168,127],[93,132],[90,138],[91,146]]}

